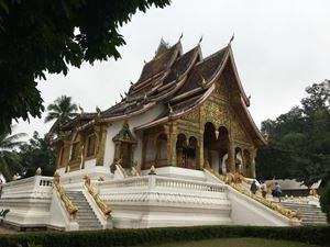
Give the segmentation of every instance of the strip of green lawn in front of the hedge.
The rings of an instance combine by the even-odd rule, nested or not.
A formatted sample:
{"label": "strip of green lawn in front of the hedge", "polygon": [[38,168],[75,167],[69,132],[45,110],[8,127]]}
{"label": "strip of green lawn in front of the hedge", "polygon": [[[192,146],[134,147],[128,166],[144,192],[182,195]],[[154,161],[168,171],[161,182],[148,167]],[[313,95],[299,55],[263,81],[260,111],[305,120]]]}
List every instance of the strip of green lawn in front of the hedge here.
{"label": "strip of green lawn in front of the hedge", "polygon": [[264,238],[215,238],[206,240],[174,242],[150,244],[147,247],[318,247],[297,242],[273,240]]}

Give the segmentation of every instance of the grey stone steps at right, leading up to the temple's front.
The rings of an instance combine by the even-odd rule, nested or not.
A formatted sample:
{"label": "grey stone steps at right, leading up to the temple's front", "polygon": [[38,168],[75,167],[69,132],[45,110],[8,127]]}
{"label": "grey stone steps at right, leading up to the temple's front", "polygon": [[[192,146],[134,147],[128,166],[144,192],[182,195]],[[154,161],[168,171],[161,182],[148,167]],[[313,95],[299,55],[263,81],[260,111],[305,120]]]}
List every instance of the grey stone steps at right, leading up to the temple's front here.
{"label": "grey stone steps at right, leading up to the temple's front", "polygon": [[298,202],[280,202],[279,204],[285,209],[298,211],[301,225],[328,225],[326,214],[316,205]]}

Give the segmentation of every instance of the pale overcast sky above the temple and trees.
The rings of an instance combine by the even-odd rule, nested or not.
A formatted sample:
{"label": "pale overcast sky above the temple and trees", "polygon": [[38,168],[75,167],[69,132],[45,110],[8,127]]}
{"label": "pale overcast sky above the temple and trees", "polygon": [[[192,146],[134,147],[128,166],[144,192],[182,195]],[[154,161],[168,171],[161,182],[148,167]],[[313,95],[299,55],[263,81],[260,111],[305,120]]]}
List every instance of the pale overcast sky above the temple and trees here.
{"label": "pale overcast sky above the temple and trees", "polygon": [[[120,101],[153,58],[163,37],[170,45],[183,33],[184,52],[202,36],[204,57],[224,47],[232,34],[233,54],[256,125],[286,113],[306,96],[305,88],[330,79],[330,1],[328,0],[173,0],[165,9],[138,12],[119,29],[127,45],[121,59],[70,67],[37,86],[44,105],[66,94],[85,112]],[[46,133],[44,117],[20,121],[15,132]]]}

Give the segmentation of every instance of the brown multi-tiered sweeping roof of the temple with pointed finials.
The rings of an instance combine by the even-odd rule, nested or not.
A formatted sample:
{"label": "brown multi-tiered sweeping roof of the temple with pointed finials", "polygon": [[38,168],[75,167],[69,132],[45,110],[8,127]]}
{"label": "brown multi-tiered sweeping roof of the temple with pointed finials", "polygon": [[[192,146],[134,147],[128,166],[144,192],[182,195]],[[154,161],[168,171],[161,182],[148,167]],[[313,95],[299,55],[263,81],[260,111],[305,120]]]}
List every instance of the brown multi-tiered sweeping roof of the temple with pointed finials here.
{"label": "brown multi-tiered sweeping roof of the temple with pointed finials", "polygon": [[[128,119],[158,103],[165,104],[167,111],[152,123],[146,123],[135,130],[180,117],[199,106],[211,94],[216,88],[215,81],[222,72],[230,74],[234,78],[234,87],[239,89],[241,100],[234,105],[235,111],[241,115],[255,143],[264,145],[265,141],[248,111],[250,102],[240,82],[230,44],[202,59],[199,44],[183,54],[180,41],[172,47],[162,41],[155,57],[144,65],[139,80],[131,85],[122,101],[96,114],[96,117],[89,119],[90,121],[80,125],[79,128],[95,122]],[[84,117],[80,116],[80,119]],[[70,125],[72,122],[67,123],[64,128]]]}

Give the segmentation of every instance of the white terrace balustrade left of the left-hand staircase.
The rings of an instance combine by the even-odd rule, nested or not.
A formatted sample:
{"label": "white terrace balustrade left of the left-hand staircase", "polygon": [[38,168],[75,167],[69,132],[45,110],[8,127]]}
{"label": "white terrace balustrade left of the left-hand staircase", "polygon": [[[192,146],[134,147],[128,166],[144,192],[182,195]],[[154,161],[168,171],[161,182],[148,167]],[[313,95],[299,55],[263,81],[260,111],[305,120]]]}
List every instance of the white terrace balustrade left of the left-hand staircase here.
{"label": "white terrace balustrade left of the left-hand staircase", "polygon": [[51,198],[53,177],[34,176],[2,184],[1,198]]}

